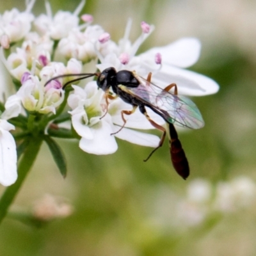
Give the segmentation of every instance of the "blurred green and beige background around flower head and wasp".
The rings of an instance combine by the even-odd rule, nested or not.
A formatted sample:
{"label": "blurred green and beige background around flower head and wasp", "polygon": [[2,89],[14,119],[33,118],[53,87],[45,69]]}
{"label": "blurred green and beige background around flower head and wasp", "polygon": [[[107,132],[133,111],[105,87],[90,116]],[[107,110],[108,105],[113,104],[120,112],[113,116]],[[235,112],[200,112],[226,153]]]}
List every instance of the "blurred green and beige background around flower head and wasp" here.
{"label": "blurred green and beige background around flower head and wasp", "polygon": [[[72,12],[79,1],[50,3],[54,13]],[[14,6],[24,10],[20,0],[1,0],[1,13]],[[44,1],[38,0],[33,12],[44,10]],[[0,255],[256,255],[256,1],[88,0],[83,12],[92,14],[94,23],[116,41],[129,17],[131,40],[140,35],[141,20],[154,24],[156,30],[140,51],[183,36],[198,37],[202,55],[191,70],[216,80],[220,92],[193,98],[205,127],[180,132],[191,167],[186,181],[172,168],[167,141],[144,163],[150,148],[125,141],[118,140],[113,155],[93,156],[77,142],[60,140],[68,162],[65,180],[44,145],[12,211],[31,212],[47,194],[65,198],[74,212],[41,228],[6,218],[0,228]],[[244,197],[234,199],[237,191],[231,191],[236,207],[228,207],[227,200],[220,209],[216,198],[225,200],[227,193],[223,189],[218,195],[220,184],[228,187],[240,178],[247,182],[238,191]],[[198,188],[210,188],[204,202],[191,199],[195,180]]]}

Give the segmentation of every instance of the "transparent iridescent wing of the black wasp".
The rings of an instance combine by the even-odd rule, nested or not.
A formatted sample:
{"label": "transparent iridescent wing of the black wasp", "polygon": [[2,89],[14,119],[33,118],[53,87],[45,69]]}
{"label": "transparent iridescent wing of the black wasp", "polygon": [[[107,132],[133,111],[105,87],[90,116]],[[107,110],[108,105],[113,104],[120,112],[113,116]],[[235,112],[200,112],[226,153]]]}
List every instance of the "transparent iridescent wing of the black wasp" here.
{"label": "transparent iridescent wing of the black wasp", "polygon": [[166,122],[192,129],[204,126],[202,115],[192,100],[166,92],[156,84],[148,83],[143,77],[136,78],[141,84],[136,88],[125,86],[125,91],[156,109]]}

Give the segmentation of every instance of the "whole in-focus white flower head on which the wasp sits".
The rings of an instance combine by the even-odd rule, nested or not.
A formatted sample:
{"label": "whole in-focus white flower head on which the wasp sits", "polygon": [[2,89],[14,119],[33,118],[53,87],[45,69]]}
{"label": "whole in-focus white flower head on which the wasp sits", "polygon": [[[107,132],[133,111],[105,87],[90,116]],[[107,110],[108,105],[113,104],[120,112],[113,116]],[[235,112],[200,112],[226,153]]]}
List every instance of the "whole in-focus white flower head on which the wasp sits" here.
{"label": "whole in-focus white flower head on which the wasp sits", "polygon": [[[120,130],[124,124],[120,112],[132,106],[121,99],[109,100],[107,104],[105,93],[97,90],[95,81],[79,84],[74,81],[76,74],[88,73],[88,63],[94,67],[93,72],[102,72],[108,67],[117,71],[136,70],[142,77],[152,72],[153,83],[163,88],[168,83],[176,83],[179,93],[184,95],[218,91],[218,84],[212,79],[183,69],[199,58],[200,42],[196,38],[182,38],[136,54],[154,26],[141,22],[141,35],[132,43],[129,20],[124,37],[116,44],[101,26],[92,24],[92,15],[79,17],[84,2],[81,1],[73,13],[59,11],[52,15],[51,6],[45,1],[46,14],[35,17],[31,13],[35,0],[31,0],[26,1],[24,12],[13,9],[0,15],[0,59],[12,76],[15,88],[11,95],[8,92],[13,92],[13,88],[4,92],[6,100],[0,104],[0,183],[4,186],[17,179],[16,145],[20,156],[26,148],[24,141],[31,136],[41,136],[48,145],[53,145],[49,147],[57,151],[55,156],[62,152],[52,140],[53,136],[79,138],[82,150],[99,155],[116,151],[115,137],[157,147],[157,136],[134,130],[154,128],[139,111],[129,116],[124,129]],[[68,76],[70,74],[72,76]],[[67,83],[72,85],[64,90],[63,85]],[[148,114],[157,124],[164,124],[150,109]],[[63,166],[60,159],[55,159],[59,167]]]}

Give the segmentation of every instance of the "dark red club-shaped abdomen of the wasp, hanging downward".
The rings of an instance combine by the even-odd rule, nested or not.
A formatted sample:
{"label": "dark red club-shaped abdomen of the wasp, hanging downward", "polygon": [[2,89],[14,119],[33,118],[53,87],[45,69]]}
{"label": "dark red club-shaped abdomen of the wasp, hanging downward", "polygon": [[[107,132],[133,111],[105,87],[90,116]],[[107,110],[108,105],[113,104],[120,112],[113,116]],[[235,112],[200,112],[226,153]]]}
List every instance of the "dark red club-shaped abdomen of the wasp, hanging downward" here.
{"label": "dark red club-shaped abdomen of the wasp, hanging downward", "polygon": [[186,154],[182,148],[180,140],[178,138],[177,131],[173,124],[169,125],[170,131],[170,154],[172,159],[173,167],[176,172],[186,180],[189,176],[189,164]]}

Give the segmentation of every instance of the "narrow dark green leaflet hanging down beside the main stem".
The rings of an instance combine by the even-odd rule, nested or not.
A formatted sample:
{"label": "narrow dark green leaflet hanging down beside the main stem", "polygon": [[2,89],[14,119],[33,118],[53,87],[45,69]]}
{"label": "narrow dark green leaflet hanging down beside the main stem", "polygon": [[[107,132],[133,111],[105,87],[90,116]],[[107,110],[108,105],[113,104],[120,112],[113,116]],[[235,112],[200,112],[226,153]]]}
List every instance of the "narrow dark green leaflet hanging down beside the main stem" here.
{"label": "narrow dark green leaflet hanging down beside the main stem", "polygon": [[65,178],[67,175],[67,163],[63,151],[56,141],[52,140],[49,136],[44,136],[44,140],[47,143],[48,147],[51,150],[52,157],[57,164],[61,175]]}

